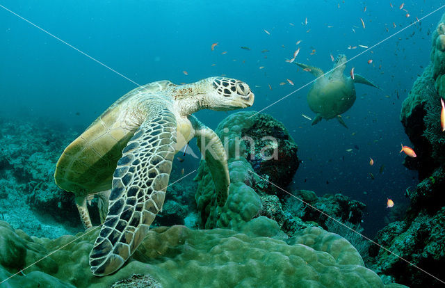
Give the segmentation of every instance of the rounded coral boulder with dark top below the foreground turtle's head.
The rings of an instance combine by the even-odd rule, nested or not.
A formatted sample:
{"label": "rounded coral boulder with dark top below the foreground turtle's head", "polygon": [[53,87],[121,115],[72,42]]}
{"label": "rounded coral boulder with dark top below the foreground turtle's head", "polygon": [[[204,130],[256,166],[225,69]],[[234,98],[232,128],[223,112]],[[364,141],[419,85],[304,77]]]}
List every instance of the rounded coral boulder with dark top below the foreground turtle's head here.
{"label": "rounded coral boulder with dark top below the foreground turtle's head", "polygon": [[227,151],[229,198],[224,207],[215,205],[213,182],[203,160],[195,177],[201,225],[236,230],[254,216],[273,215],[276,196],[283,192],[269,182],[286,187],[299,164],[297,145],[289,133],[270,115],[250,111],[229,115],[215,132]]}

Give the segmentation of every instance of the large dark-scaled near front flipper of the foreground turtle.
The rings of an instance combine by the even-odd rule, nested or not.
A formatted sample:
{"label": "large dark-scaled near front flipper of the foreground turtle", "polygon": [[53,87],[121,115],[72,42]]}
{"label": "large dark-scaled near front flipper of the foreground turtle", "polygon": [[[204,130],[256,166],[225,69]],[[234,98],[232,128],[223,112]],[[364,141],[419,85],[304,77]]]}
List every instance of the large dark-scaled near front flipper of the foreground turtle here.
{"label": "large dark-scaled near front flipper of the foreground turtle", "polygon": [[150,114],[122,151],[113,174],[108,215],[90,253],[95,275],[120,269],[162,208],[175,156],[177,125],[165,105]]}

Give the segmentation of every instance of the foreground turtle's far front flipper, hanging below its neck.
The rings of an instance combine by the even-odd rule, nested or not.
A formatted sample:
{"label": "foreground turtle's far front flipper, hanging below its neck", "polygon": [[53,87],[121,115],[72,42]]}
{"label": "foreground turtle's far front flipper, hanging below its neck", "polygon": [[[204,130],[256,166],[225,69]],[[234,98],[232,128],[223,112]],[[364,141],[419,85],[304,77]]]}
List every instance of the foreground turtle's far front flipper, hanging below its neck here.
{"label": "foreground turtle's far front flipper, hanging below its neck", "polygon": [[207,167],[210,170],[213,184],[216,191],[216,203],[224,206],[229,195],[229,168],[227,166],[227,154],[225,153],[223,143],[216,133],[202,124],[193,115],[189,117],[195,129],[197,146],[200,148]]}

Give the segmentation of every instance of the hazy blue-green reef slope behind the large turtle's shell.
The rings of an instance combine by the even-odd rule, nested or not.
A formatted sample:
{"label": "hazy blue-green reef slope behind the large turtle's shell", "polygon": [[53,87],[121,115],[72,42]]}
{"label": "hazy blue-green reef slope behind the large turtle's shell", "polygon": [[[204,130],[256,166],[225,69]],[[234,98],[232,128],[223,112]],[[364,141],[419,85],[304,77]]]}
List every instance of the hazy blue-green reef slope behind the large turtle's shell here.
{"label": "hazy blue-green reef slope behind the large turtle's shell", "polygon": [[[58,189],[54,168],[74,136],[37,122],[3,120],[0,127],[0,219],[39,237],[79,232],[74,195]],[[60,225],[63,224],[63,225]]]}

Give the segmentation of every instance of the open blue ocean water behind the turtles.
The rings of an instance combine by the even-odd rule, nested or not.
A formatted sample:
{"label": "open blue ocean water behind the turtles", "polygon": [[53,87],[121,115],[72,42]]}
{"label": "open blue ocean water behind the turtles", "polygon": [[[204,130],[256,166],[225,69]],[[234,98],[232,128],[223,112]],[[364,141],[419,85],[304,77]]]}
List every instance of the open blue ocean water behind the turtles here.
{"label": "open blue ocean water behind the turtles", "polygon": [[[372,235],[385,225],[387,198],[403,205],[405,189],[418,182],[399,154],[401,143],[410,145],[399,114],[412,83],[430,61],[430,33],[444,11],[401,29],[441,1],[405,1],[407,11],[399,9],[402,1],[393,7],[390,1],[275,2],[4,0],[1,5],[138,84],[161,79],[189,83],[221,74],[242,79],[255,93],[250,108],[255,111],[314,79],[284,61],[297,47],[296,61],[327,71],[332,68],[330,54],[353,58],[365,50],[358,45],[381,42],[347,64],[346,73],[355,67],[382,88],[356,85],[357,101],[343,114],[349,129],[336,120],[312,127],[301,116],[314,117],[306,102],[310,85],[263,111],[282,121],[299,146],[302,165],[291,189],[318,195],[341,192],[364,202],[364,233]],[[82,131],[136,87],[4,8],[0,15],[2,117]],[[211,51],[214,42],[218,46]],[[216,128],[227,113],[196,115]],[[369,157],[375,161],[372,167]]]}

